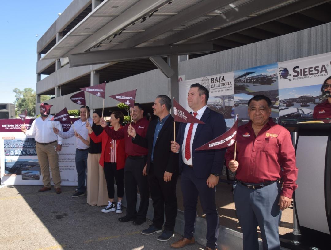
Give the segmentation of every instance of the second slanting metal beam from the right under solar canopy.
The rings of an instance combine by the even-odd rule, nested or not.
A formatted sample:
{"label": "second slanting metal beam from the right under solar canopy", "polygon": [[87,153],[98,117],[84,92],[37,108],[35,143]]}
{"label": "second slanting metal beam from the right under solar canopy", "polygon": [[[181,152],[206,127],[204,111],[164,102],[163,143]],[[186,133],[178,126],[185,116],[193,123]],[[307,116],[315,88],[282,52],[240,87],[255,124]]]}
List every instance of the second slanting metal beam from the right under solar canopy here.
{"label": "second slanting metal beam from the right under solar canopy", "polygon": [[[232,21],[236,21],[240,18],[247,17],[250,14],[256,13],[259,10],[268,9],[273,6],[279,5],[282,2],[287,0],[255,0],[247,4],[243,4],[235,9],[231,9],[225,12],[223,15],[219,15],[206,21],[199,22],[195,25],[192,25],[182,31],[179,31],[173,35],[170,35],[162,40],[154,42],[153,45],[164,45],[164,44],[173,44],[186,38],[199,35],[207,30],[213,28],[218,28],[223,25],[229,25]],[[239,11],[238,11],[239,9]],[[225,17],[225,18],[224,18]],[[207,34],[208,35],[208,34]]]}

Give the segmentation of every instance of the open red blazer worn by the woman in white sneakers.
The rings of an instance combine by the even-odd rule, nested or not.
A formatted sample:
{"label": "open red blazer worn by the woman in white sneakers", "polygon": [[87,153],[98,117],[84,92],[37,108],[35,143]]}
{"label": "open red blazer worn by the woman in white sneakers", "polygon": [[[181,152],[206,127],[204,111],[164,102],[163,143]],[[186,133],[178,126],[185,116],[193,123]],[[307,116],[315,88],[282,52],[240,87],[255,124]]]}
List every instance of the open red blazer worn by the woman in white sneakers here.
{"label": "open red blazer worn by the woman in white sneakers", "polygon": [[[114,129],[113,127],[110,127],[110,129]],[[119,129],[123,129],[123,127],[121,126]],[[95,143],[99,143],[101,142],[101,147],[102,147],[102,151],[101,151],[101,156],[100,156],[100,160],[99,160],[99,164],[104,167],[104,159],[105,159],[105,148],[107,145],[107,141],[109,139],[109,136],[107,135],[107,133],[105,132],[105,130],[98,136],[96,136],[94,134],[94,132],[92,132],[91,134],[88,134],[90,136],[90,138],[93,140],[93,142]],[[116,140],[116,168],[117,170],[124,168],[125,165],[125,159],[126,159],[126,154],[125,154],[125,144],[124,144],[124,139],[121,140]]]}

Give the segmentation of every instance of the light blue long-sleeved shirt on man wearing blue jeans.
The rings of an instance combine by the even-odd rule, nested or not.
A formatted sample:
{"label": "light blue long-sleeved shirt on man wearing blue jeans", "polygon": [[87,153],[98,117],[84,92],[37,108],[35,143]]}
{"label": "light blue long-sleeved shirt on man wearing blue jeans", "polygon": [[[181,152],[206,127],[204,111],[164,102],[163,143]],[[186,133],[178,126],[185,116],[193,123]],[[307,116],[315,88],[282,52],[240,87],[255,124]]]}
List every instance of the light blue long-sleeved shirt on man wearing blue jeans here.
{"label": "light blue long-sleeved shirt on man wearing blue jeans", "polygon": [[[88,122],[92,126],[93,120],[92,120],[91,117],[88,118]],[[85,140],[87,140],[87,138],[88,138],[88,129],[85,127],[85,125],[86,125],[86,122],[83,122],[82,119],[79,119],[79,120],[77,120],[73,123],[73,126],[71,126],[71,128],[67,132],[59,131],[58,135],[61,136],[64,139],[66,139],[66,138],[73,137],[75,135],[75,131],[76,131],[78,134],[81,135],[81,137],[83,137]],[[75,130],[73,130],[73,128]],[[76,147],[78,149],[87,149],[90,146],[87,146],[80,139],[78,139],[76,137]]]}

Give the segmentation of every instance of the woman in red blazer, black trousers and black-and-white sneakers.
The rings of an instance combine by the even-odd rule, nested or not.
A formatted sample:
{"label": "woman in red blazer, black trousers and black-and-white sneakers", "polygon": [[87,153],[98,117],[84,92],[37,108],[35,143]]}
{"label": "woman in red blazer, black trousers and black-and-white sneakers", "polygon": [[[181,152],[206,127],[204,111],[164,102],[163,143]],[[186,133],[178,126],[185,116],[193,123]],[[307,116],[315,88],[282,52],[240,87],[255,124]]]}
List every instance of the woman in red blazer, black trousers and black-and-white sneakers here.
{"label": "woman in red blazer, black trousers and black-and-white sneakers", "polygon": [[[110,118],[110,125],[112,126],[111,129],[114,129],[115,131],[123,129],[121,126],[123,119],[124,115],[121,111],[114,111]],[[126,158],[124,139],[113,140],[107,135],[105,131],[96,136],[88,123],[86,123],[86,128],[88,129],[89,136],[93,142],[102,143],[102,151],[99,163],[104,168],[109,201],[108,206],[102,209],[101,212],[109,213],[116,211],[117,214],[121,214],[121,201],[124,195],[124,165]],[[116,206],[114,201],[114,179],[116,180],[118,197]]]}

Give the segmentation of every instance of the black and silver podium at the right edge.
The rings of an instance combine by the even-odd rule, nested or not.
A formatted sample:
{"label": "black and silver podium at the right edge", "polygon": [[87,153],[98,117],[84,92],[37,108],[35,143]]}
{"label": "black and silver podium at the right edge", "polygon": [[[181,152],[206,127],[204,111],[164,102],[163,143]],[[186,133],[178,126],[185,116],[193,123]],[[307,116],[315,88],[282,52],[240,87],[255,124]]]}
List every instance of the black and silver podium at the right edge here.
{"label": "black and silver podium at the right edge", "polygon": [[[330,249],[331,244],[331,119],[283,120],[282,125],[296,137],[298,188],[294,209],[301,237],[285,240],[290,249]],[[293,238],[293,239],[294,239]],[[293,240],[292,239],[292,240]],[[284,239],[281,239],[284,243]]]}

